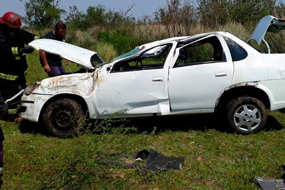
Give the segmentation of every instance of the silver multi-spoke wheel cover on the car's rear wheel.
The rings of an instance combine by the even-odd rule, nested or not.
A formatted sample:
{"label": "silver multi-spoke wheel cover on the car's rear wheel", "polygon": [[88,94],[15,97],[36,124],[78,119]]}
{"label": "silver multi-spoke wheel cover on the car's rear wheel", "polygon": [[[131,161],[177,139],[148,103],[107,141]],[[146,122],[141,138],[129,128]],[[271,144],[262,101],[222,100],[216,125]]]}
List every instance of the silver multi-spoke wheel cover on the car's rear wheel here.
{"label": "silver multi-spoke wheel cover on the car's rear wheel", "polygon": [[253,131],[261,123],[261,112],[254,105],[240,106],[233,115],[235,126],[242,131]]}

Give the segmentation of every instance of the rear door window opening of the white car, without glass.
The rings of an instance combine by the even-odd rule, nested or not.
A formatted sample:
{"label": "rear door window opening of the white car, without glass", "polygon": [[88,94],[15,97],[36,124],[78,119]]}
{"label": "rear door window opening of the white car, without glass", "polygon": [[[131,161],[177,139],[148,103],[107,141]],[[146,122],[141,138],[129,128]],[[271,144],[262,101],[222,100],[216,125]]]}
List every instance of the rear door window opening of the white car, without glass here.
{"label": "rear door window opening of the white car, without glass", "polygon": [[[178,47],[183,45],[179,45]],[[221,61],[226,61],[226,56],[219,39],[213,36],[181,48],[174,67]]]}

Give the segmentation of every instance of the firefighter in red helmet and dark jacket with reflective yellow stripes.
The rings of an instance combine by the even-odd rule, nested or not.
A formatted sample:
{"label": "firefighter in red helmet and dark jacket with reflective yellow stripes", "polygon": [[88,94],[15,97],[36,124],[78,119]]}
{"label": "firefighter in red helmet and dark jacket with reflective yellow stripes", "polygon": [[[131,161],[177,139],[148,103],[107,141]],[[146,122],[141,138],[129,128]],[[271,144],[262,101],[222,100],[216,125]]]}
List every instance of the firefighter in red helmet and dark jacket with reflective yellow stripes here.
{"label": "firefighter in red helmet and dark jacket with reflective yellow stripes", "polygon": [[4,101],[26,87],[26,54],[34,48],[25,44],[39,38],[20,29],[21,26],[21,19],[14,12],[6,12],[0,18],[0,92]]}

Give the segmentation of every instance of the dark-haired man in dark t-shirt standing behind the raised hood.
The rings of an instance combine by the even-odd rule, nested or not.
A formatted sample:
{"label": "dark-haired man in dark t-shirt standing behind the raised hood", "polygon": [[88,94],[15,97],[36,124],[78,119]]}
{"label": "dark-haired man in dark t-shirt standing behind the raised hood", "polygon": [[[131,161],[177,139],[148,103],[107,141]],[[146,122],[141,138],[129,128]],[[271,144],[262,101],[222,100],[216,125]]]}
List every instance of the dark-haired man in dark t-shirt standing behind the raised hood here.
{"label": "dark-haired man in dark t-shirt standing behind the raised hood", "polygon": [[[56,24],[53,31],[50,31],[49,33],[45,34],[45,36],[43,36],[42,38],[54,39],[54,40],[64,42],[65,32],[66,32],[65,24],[62,22],[59,22]],[[62,66],[62,63],[61,63],[61,60],[62,60],[61,57],[51,54],[51,53],[45,53],[43,51],[39,52],[39,56],[40,56],[40,62],[49,77],[54,77],[54,76],[65,73],[64,67]],[[66,64],[69,65],[68,60],[66,60]]]}

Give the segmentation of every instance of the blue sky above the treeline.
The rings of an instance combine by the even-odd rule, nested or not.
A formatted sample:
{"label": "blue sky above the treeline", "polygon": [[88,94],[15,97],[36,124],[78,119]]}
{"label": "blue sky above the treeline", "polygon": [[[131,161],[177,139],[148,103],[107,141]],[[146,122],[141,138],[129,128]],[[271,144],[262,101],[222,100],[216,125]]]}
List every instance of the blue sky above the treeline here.
{"label": "blue sky above the treeline", "polygon": [[[19,0],[0,0],[0,17],[8,11],[16,12],[21,16],[25,15],[24,4]],[[96,6],[98,4],[104,5],[107,9],[115,9],[116,11],[125,11],[128,5],[132,3],[136,5],[130,11],[134,17],[143,15],[152,15],[158,7],[164,7],[166,0],[61,0],[60,7],[69,10],[69,6],[76,5],[79,11],[85,12],[89,6]]]}

